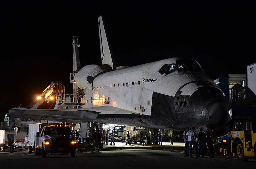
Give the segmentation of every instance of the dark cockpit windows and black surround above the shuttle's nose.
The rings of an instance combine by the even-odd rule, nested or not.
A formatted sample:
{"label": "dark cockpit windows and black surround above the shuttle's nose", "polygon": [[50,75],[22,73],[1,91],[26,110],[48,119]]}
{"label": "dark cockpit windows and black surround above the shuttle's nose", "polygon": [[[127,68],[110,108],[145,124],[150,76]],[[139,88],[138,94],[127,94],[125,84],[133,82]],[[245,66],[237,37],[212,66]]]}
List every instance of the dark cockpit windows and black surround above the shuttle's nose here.
{"label": "dark cockpit windows and black surround above the shuttle's nose", "polygon": [[162,68],[158,71],[161,75],[165,73],[165,76],[178,70],[178,72],[182,71],[191,71],[191,72],[200,72],[206,74],[203,68],[197,64],[196,61],[192,59],[179,59],[176,60],[176,64],[164,64]]}

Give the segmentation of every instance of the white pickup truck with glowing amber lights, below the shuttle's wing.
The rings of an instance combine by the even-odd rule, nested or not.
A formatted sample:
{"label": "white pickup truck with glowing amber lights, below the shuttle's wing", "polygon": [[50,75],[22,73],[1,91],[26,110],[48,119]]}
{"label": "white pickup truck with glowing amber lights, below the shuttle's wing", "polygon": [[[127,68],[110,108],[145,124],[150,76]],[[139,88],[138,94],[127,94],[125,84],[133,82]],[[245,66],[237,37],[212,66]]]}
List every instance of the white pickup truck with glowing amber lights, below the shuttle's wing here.
{"label": "white pickup truck with glowing amber lights, below the shuttle's wing", "polygon": [[36,133],[35,155],[41,155],[46,158],[48,153],[69,154],[75,157],[76,140],[69,126],[65,124],[49,123],[43,127],[41,133]]}

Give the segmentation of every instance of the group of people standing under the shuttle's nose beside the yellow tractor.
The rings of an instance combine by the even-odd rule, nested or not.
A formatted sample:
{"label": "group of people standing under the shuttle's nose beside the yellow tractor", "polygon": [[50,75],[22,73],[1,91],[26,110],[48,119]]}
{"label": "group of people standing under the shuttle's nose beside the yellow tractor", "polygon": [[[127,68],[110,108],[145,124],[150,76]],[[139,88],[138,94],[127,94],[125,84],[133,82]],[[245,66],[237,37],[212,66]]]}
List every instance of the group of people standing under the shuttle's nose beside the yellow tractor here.
{"label": "group of people standing under the shuttle's nose beside the yellow tractor", "polygon": [[195,157],[204,157],[204,153],[207,151],[206,142],[208,142],[208,147],[210,150],[211,156],[210,158],[214,157],[213,154],[213,134],[212,132],[207,129],[207,133],[203,132],[203,129],[200,129],[200,133],[196,135],[195,133],[196,128],[192,127],[191,130],[187,127],[183,133],[184,138],[184,156],[185,157],[193,157],[192,150],[195,153]]}

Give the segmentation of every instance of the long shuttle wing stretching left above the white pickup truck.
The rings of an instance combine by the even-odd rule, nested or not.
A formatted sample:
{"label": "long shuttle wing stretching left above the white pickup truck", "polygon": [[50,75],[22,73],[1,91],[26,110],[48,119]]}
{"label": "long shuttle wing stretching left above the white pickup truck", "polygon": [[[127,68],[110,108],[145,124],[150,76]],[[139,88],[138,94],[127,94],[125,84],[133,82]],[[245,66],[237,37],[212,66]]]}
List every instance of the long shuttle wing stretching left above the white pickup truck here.
{"label": "long shuttle wing stretching left above the white pickup truck", "polygon": [[97,118],[99,114],[135,114],[128,110],[124,110],[112,106],[90,107],[79,109],[11,109],[8,112],[9,117],[17,117],[32,120],[51,120],[79,123],[81,121],[103,122],[101,118]]}

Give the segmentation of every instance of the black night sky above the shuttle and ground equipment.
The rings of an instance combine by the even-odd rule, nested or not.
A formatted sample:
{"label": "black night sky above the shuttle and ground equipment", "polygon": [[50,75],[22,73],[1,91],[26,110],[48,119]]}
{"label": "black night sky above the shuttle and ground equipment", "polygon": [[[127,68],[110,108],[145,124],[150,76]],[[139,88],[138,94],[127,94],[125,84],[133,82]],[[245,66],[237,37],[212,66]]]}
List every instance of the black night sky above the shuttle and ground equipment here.
{"label": "black night sky above the shuttle and ground equipment", "polygon": [[181,56],[197,60],[215,79],[246,73],[256,62],[255,4],[84,2],[0,2],[0,121],[8,109],[26,107],[52,81],[63,82],[72,94],[72,36],[79,37],[82,67],[101,64],[101,15],[117,66]]}

